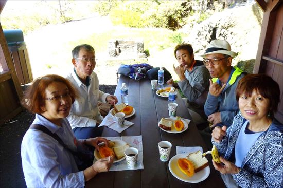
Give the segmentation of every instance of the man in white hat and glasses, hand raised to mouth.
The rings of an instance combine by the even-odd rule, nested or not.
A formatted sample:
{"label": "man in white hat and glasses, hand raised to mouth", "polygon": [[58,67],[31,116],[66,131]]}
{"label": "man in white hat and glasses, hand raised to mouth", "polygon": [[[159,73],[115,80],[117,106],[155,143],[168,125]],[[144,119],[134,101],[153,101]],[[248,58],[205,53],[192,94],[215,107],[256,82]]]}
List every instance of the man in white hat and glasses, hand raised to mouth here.
{"label": "man in white hat and glasses, hand raised to mouth", "polygon": [[235,90],[238,82],[245,76],[242,70],[234,68],[232,59],[237,53],[231,51],[225,40],[214,40],[208,45],[205,54],[201,55],[210,76],[209,93],[204,105],[204,112],[211,127],[233,123],[239,110]]}

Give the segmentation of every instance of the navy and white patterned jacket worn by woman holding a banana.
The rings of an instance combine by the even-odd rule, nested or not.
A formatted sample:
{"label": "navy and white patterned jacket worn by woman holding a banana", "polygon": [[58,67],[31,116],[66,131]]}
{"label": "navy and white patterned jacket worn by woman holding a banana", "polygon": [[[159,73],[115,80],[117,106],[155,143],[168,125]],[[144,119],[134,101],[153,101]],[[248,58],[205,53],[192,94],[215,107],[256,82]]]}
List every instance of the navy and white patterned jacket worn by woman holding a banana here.
{"label": "navy and white patterned jacket worn by woman holding a banana", "polygon": [[[211,142],[217,147],[219,155],[233,161],[235,144],[243,123],[247,121],[240,111],[228,127],[226,136],[220,143]],[[263,133],[244,157],[240,172],[232,174],[240,187],[283,187],[283,125],[273,120],[269,129]]]}

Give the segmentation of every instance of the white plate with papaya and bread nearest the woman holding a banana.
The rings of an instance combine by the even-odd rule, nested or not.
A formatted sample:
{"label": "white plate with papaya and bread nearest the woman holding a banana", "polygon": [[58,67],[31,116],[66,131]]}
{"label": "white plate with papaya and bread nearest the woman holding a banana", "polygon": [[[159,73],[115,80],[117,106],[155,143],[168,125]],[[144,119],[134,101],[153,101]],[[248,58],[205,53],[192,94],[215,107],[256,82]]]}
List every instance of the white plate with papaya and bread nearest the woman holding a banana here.
{"label": "white plate with papaya and bread nearest the woman holding a banana", "polygon": [[188,155],[189,154],[178,154],[170,159],[168,166],[171,174],[175,176],[177,179],[189,183],[198,183],[205,180],[210,174],[209,166],[206,166],[205,168],[203,168],[203,170],[194,173],[192,177],[188,177],[180,170],[180,168],[178,167],[178,159],[187,158]]}

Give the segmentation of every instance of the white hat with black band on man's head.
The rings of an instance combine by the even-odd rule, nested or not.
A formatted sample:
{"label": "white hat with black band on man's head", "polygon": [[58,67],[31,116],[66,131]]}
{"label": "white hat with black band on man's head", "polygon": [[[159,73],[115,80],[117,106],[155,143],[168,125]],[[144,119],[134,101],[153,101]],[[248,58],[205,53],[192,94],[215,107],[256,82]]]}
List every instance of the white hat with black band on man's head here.
{"label": "white hat with black band on man's head", "polygon": [[230,44],[225,40],[213,40],[209,43],[205,53],[201,55],[201,57],[205,58],[205,55],[208,54],[215,54],[215,53],[221,53],[225,55],[229,55],[232,58],[234,58],[237,53],[234,51],[231,51]]}

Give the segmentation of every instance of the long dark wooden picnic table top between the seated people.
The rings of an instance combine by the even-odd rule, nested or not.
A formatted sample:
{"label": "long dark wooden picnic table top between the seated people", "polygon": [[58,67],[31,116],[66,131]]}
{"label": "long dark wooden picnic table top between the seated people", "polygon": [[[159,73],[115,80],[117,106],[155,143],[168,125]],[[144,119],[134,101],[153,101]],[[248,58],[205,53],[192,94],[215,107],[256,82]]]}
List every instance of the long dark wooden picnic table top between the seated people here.
{"label": "long dark wooden picnic table top between the seated people", "polygon": [[[102,137],[138,136],[143,137],[143,170],[134,171],[110,171],[99,173],[92,180],[86,182],[85,187],[225,187],[219,172],[215,170],[208,156],[210,174],[207,179],[199,183],[187,183],[175,178],[169,171],[169,160],[176,155],[176,146],[201,146],[207,151],[196,125],[191,121],[189,128],[183,133],[171,134],[158,128],[158,121],[168,114],[168,98],[157,96],[151,89],[148,79],[136,81],[125,76],[120,76],[115,90],[119,102],[120,87],[122,83],[128,86],[129,104],[136,110],[135,115],[127,118],[134,125],[117,133],[108,127],[104,127]],[[177,95],[177,116],[191,119],[181,96]],[[170,159],[162,162],[159,159],[158,142],[166,140],[172,143]]]}

